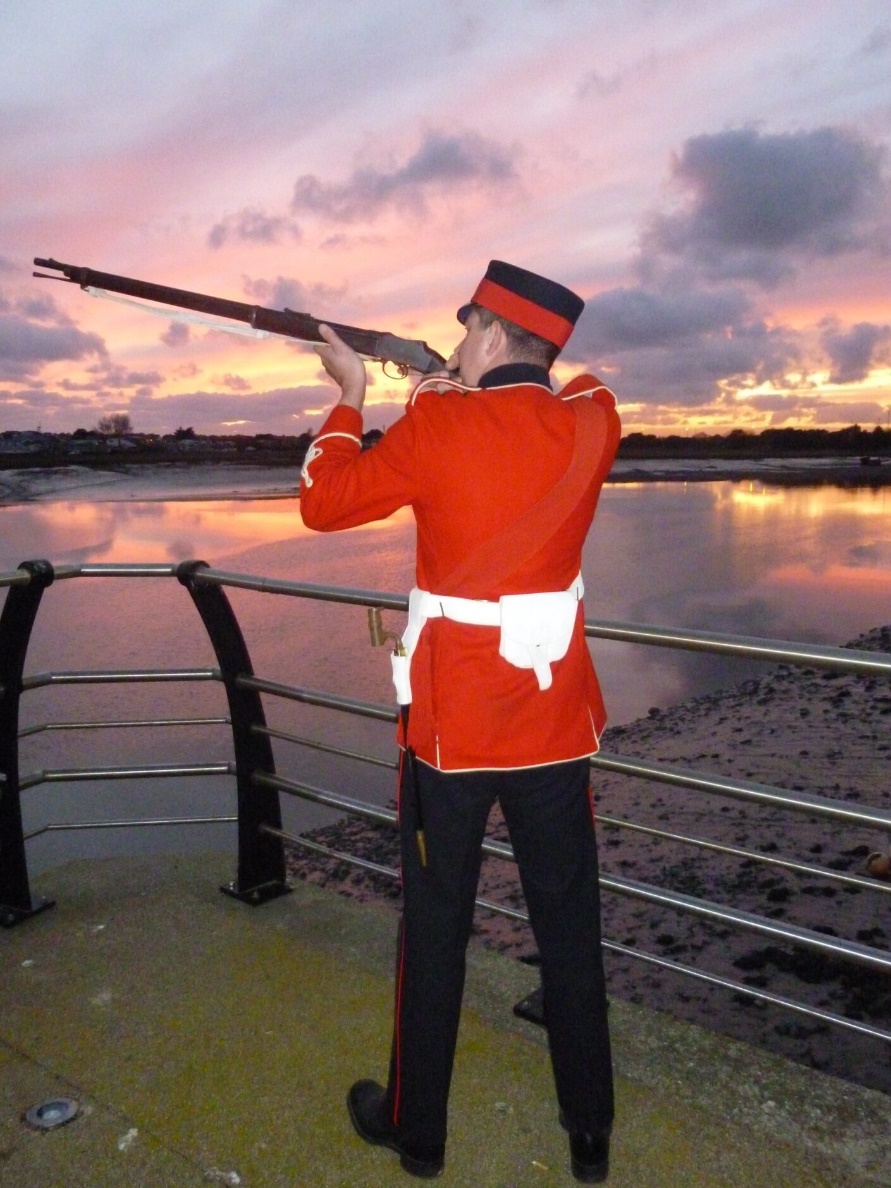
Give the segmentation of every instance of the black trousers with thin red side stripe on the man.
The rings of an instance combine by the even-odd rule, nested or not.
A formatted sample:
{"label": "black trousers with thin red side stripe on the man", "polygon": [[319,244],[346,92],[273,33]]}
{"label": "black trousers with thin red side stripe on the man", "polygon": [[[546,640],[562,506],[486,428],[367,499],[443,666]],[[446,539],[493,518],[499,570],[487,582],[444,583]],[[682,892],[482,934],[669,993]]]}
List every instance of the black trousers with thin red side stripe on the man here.
{"label": "black trousers with thin red side stripe on the man", "polygon": [[587,759],[517,771],[441,772],[403,764],[399,826],[404,908],[387,1082],[406,1144],[446,1142],[448,1097],[481,846],[495,800],[511,835],[542,959],[557,1101],[570,1130],[607,1130],[613,1079],[600,949],[598,849]]}

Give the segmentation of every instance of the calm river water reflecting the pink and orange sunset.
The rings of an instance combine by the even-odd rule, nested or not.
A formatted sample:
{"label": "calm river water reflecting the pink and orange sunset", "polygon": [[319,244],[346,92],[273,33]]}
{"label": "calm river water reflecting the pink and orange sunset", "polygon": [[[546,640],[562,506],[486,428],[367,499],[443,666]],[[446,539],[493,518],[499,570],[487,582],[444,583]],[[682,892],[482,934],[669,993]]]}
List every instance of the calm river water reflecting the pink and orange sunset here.
{"label": "calm river water reflecting the pink and orange sunset", "polygon": [[[891,621],[891,488],[772,487],[760,482],[645,482],[607,486],[588,538],[583,575],[588,618],[734,634],[840,644]],[[412,584],[413,520],[320,536],[301,522],[296,499],[168,503],[58,500],[0,508],[0,570],[29,558],[171,562],[198,557],[247,574],[406,592]],[[0,594],[0,598],[4,596]],[[373,650],[361,608],[230,592],[264,677],[390,701],[388,661]],[[385,619],[387,617],[385,615]],[[398,628],[399,615],[388,617]],[[723,658],[594,640],[592,649],[614,725],[643,716],[762,668]],[[51,587],[26,672],[213,665],[185,592],[173,579],[74,579]],[[220,687],[204,684],[38,689],[23,697],[23,721],[152,719],[226,713]],[[331,716],[267,703],[272,725],[307,737],[330,734]],[[388,727],[337,726],[349,745],[392,754]],[[331,760],[284,748],[287,775],[326,782]],[[228,758],[220,726],[44,731],[24,740],[23,775],[81,765],[196,763]],[[345,791],[385,801],[387,770],[334,764]],[[361,771],[361,775],[360,775]],[[226,788],[221,791],[221,783]],[[233,811],[232,782],[190,777],[89,784],[43,783],[23,795],[27,828],[94,821]],[[326,820],[287,805],[289,828]],[[228,845],[230,827],[44,834],[30,847],[36,867],[70,854]],[[226,839],[226,840],[223,840]]]}

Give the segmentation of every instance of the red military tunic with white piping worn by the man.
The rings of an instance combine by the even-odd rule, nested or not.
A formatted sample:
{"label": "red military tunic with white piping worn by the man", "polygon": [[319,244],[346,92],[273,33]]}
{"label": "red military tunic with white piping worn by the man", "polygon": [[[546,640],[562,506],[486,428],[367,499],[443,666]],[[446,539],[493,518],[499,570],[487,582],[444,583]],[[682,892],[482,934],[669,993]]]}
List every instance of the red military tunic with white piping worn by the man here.
{"label": "red military tunic with white piping worn by the man", "polygon": [[[442,381],[438,381],[442,383]],[[590,481],[562,527],[530,560],[473,598],[567,589],[615,456],[615,398],[593,375],[555,396],[544,384],[444,393],[422,381],[405,415],[361,451],[362,418],[337,405],[304,467],[301,512],[308,527],[335,531],[385,519],[411,505],[417,520],[417,584],[443,593],[461,562],[550,491],[573,455],[575,399],[598,409]],[[449,589],[461,595],[461,589]],[[542,690],[530,669],[498,652],[497,627],[431,619],[411,663],[410,741],[443,771],[530,767],[593,754],[606,710],[583,630],[582,604],[569,651]]]}

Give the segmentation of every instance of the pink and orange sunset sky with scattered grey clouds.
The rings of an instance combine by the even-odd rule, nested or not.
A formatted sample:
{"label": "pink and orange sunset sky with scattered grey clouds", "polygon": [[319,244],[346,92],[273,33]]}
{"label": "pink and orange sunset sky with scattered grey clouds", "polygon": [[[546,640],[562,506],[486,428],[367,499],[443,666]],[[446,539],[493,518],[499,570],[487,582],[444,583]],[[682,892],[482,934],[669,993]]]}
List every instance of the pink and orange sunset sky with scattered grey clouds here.
{"label": "pink and orange sunset sky with scattered grey clouds", "polygon": [[[626,431],[891,424],[887,0],[4,0],[0,430],[317,430],[305,346],[32,258],[425,339],[491,258]],[[366,424],[410,381],[369,365]]]}

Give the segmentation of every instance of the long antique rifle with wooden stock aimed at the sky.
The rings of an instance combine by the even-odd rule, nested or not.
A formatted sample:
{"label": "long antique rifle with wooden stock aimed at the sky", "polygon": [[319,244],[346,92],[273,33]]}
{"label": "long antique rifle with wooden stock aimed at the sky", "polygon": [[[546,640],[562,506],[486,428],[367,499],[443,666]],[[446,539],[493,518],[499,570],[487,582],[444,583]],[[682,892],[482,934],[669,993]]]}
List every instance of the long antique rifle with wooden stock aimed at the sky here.
{"label": "long antique rifle with wooden stock aimed at the sky", "polygon": [[[70,280],[71,284],[80,285],[81,289],[95,296],[102,296],[103,292],[125,293],[141,301],[159,302],[162,305],[177,305],[198,314],[210,314],[235,322],[246,322],[259,336],[280,334],[287,339],[298,339],[301,342],[322,342],[324,340],[318,333],[318,327],[330,326],[360,355],[378,360],[384,366],[385,374],[387,373],[386,364],[393,364],[400,379],[410,371],[426,374],[446,366],[443,356],[428,347],[425,342],[400,339],[383,330],[364,330],[355,326],[341,326],[326,318],[312,317],[311,314],[298,314],[292,309],[265,309],[263,305],[248,305],[247,302],[208,297],[204,293],[192,293],[185,289],[170,289],[166,285],[154,285],[147,280],[116,277],[110,272],[94,272],[93,268],[83,268],[76,264],[59,264],[58,260],[42,260],[39,257],[34,257],[34,264],[40,268],[52,268],[62,273],[61,277],[51,277],[45,272],[33,273],[44,280]],[[152,312],[160,312],[160,310],[152,310]],[[234,328],[220,326],[217,329]]]}

